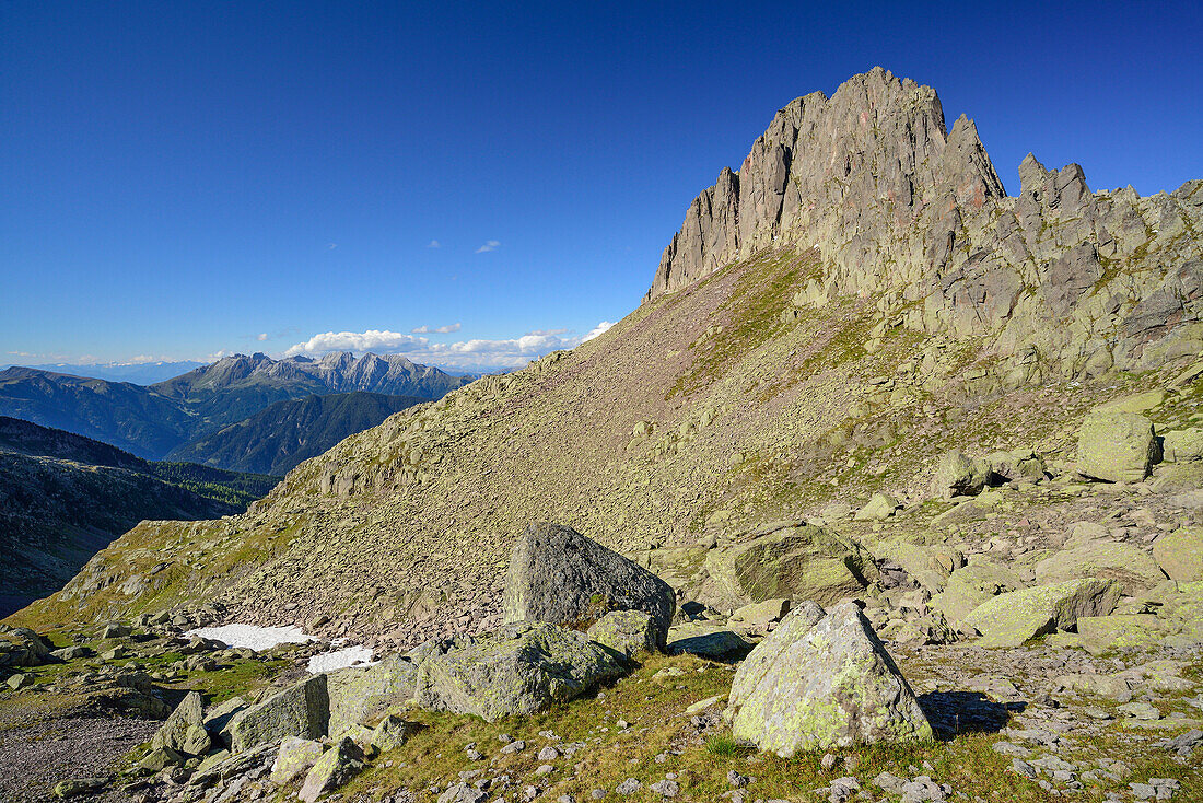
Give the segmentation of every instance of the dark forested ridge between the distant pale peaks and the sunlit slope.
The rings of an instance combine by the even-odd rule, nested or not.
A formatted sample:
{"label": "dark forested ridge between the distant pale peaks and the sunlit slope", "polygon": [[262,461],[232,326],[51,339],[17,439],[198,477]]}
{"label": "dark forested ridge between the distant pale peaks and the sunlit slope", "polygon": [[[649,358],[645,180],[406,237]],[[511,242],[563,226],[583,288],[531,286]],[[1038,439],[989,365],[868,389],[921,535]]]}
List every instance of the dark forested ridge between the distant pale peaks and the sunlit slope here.
{"label": "dark forested ridge between the distant pale peaks and the sunlit slope", "polygon": [[343,438],[427,398],[350,392],[278,401],[172,450],[171,460],[283,476]]}

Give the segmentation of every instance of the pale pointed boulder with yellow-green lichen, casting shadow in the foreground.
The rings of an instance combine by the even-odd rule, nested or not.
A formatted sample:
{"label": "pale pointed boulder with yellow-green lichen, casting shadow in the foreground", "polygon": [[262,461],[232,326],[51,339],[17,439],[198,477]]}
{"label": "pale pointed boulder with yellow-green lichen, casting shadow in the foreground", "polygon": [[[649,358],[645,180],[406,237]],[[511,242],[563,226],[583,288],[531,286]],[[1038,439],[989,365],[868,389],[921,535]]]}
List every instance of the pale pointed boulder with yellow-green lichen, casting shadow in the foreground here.
{"label": "pale pointed boulder with yellow-green lichen, casting shadow in the foreground", "polygon": [[[754,656],[764,646],[772,657],[736,673],[735,738],[782,757],[872,742],[931,740],[914,692],[857,604],[842,602],[807,627],[816,613],[799,608],[794,626],[783,622],[780,638],[775,632],[752,651]],[[753,683],[753,675],[759,680]]]}

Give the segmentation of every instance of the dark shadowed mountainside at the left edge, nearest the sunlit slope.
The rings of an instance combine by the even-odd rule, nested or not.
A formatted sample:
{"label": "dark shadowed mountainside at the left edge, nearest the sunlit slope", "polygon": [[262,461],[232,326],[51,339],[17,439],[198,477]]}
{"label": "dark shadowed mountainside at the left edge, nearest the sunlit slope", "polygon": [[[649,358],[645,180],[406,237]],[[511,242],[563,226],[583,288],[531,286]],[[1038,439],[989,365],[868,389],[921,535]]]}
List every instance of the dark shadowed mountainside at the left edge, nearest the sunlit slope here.
{"label": "dark shadowed mountainside at the left edge, nearest the sunlit slope", "polygon": [[278,479],[149,462],[0,415],[0,616],[60,588],[138,521],[241,513]]}

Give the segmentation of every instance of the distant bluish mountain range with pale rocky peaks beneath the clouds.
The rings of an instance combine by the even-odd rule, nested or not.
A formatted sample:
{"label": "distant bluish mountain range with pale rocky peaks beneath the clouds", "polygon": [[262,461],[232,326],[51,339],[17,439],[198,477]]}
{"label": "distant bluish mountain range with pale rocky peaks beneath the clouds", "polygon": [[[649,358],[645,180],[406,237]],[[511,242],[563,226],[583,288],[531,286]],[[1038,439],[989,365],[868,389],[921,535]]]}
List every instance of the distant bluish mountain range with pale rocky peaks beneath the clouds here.
{"label": "distant bluish mountain range with pale rocky peaks beneath the clouds", "polygon": [[352,391],[429,401],[472,379],[399,355],[350,353],[320,360],[238,354],[148,386],[11,367],[0,371],[0,415],[83,435],[153,460],[279,401]]}

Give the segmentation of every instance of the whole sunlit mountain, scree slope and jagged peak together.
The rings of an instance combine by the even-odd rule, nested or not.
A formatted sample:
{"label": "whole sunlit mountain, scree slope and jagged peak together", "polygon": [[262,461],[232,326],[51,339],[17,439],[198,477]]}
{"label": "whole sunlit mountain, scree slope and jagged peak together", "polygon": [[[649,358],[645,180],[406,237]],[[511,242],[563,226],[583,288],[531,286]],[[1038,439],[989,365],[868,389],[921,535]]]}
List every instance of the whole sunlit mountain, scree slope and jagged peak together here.
{"label": "whole sunlit mountain, scree slope and jagged peak together", "polygon": [[[831,101],[807,98],[758,141],[737,193],[728,179],[728,196],[745,197],[757,165],[786,164],[763,155],[783,153],[769,143],[810,131],[823,149],[788,160],[805,203],[741,200],[731,220],[746,234],[729,229],[706,252],[722,256],[698,268],[704,278],[682,285],[670,247],[647,302],[606,336],[393,415],[298,466],[244,516],[142,525],[28,615],[214,598],[249,620],[321,615],[334,631],[408,643],[496,624],[503,556],[539,519],[644,554],[723,606],[739,592],[707,580],[723,562],[706,549],[730,555],[769,522],[858,509],[875,492],[929,522],[950,504],[929,498],[948,448],[1026,448],[1071,482],[1078,425],[1102,402],[1161,389],[1146,411],[1157,431],[1197,426],[1197,371],[1184,371],[1203,343],[1201,184],[1094,195],[1075,169],[1027,163],[1024,195],[1006,199],[972,126],[943,130],[932,90],[873,71]],[[883,176],[896,179],[894,200]],[[1113,213],[1157,225],[1113,230]],[[786,232],[804,226],[781,219],[805,219],[810,234],[792,242]],[[940,220],[947,236],[932,234]],[[932,242],[947,248],[929,255]],[[1102,250],[1088,259],[1083,242]],[[954,273],[940,291],[924,284]],[[1020,274],[992,303],[996,279]],[[857,581],[876,581],[855,543],[872,547],[875,531],[836,520],[832,543]],[[176,571],[149,575],[161,560]],[[131,578],[138,594],[114,594]]]}

